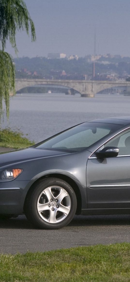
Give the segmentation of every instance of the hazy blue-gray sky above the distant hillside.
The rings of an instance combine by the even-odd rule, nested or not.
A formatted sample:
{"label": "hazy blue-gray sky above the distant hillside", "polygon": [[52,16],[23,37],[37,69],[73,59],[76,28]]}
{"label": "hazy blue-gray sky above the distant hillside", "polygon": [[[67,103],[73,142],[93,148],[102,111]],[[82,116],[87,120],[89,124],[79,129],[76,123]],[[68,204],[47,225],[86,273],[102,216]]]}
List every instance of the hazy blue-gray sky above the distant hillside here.
{"label": "hazy blue-gray sky above the distant hillside", "polygon": [[[18,56],[48,53],[94,53],[130,56],[130,0],[25,0],[36,28],[31,43],[25,32],[16,36]],[[6,51],[15,53],[7,43]]]}

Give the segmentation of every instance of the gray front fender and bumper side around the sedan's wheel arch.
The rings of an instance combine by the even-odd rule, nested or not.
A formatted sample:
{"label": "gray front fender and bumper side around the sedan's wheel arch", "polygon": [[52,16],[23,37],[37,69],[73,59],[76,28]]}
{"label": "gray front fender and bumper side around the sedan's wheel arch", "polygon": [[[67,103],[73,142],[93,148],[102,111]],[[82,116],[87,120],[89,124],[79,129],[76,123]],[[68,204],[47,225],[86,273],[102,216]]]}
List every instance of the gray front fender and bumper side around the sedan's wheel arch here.
{"label": "gray front fender and bumper side around the sedan's wheel arch", "polygon": [[[2,195],[0,213],[21,214],[30,186],[39,178],[49,174],[59,174],[61,178],[62,175],[65,175],[74,180],[81,193],[82,207],[87,208],[86,164],[89,155],[90,152],[84,150],[78,153],[36,158],[35,160],[26,160],[8,165],[8,168],[22,168],[23,172],[16,180],[0,182],[0,196]],[[6,166],[1,168],[6,168]],[[20,189],[18,191],[9,191],[9,193],[8,191],[1,192],[1,188],[4,187]]]}

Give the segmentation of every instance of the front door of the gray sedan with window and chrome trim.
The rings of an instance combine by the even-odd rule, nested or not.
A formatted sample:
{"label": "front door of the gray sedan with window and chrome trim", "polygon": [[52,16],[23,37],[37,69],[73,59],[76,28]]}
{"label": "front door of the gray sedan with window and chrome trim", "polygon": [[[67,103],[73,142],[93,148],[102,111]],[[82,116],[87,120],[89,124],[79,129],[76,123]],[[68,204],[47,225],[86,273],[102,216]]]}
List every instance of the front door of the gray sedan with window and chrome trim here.
{"label": "front door of the gray sedan with window and chrome trim", "polygon": [[86,168],[88,208],[130,208],[130,130],[123,131],[97,151],[105,146],[118,147],[119,155],[99,159],[94,152],[89,157]]}

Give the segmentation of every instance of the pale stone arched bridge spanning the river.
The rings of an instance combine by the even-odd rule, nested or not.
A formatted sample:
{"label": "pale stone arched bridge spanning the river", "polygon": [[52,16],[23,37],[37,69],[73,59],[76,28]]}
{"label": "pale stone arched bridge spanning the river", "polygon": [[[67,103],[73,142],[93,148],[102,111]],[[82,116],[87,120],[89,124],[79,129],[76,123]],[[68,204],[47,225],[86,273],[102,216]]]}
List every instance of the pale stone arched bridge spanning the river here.
{"label": "pale stone arched bridge spanning the river", "polygon": [[100,80],[60,80],[60,79],[16,79],[16,92],[28,86],[36,85],[60,85],[69,88],[70,93],[74,90],[81,94],[81,97],[94,97],[101,90],[112,87],[128,87],[129,81],[100,81]]}

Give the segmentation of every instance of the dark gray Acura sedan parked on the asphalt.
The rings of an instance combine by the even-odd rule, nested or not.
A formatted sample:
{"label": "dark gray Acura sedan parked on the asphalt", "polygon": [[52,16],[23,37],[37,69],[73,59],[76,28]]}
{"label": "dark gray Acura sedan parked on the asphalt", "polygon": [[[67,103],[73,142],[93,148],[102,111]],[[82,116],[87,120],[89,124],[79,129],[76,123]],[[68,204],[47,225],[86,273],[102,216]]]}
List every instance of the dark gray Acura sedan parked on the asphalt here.
{"label": "dark gray Acura sedan parked on the asphalt", "polygon": [[23,213],[46,229],[74,214],[130,214],[130,117],[84,122],[0,153],[0,216]]}

